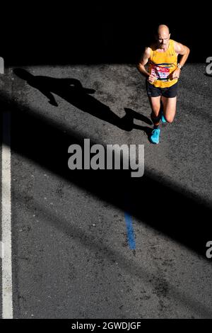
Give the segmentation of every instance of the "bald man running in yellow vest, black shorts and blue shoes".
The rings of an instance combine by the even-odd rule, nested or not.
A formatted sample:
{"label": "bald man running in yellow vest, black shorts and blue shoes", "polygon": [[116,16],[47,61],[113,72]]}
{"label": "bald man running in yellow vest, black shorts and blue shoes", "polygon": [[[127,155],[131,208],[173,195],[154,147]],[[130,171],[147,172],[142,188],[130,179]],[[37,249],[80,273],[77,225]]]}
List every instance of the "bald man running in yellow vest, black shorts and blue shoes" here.
{"label": "bald man running in yellow vest, black shorts and blue shoes", "polygon": [[[177,104],[177,81],[184,63],[189,56],[189,47],[170,39],[170,30],[165,25],[158,26],[156,42],[146,47],[138,64],[138,69],[146,77],[146,91],[151,104],[151,119],[154,128],[150,141],[159,143],[160,120],[172,123]],[[178,55],[182,55],[177,62]],[[148,70],[145,65],[148,64]],[[162,107],[161,107],[162,106]]]}

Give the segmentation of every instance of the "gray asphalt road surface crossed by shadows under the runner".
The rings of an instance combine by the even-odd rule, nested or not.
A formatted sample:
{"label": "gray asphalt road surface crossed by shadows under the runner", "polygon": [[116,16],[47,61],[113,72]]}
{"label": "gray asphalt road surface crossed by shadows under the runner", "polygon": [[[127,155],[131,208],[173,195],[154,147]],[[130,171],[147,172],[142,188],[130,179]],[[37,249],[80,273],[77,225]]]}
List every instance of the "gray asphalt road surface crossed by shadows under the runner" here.
{"label": "gray asphalt road surface crossed by shadows under the runner", "polygon": [[[14,317],[212,318],[205,255],[212,78],[205,65],[184,67],[176,118],[161,125],[159,145],[148,141],[145,79],[132,64],[22,67],[40,76],[31,81],[13,69],[0,83],[1,111],[12,122]],[[95,92],[77,95],[64,79]],[[69,170],[68,147],[84,138],[144,145],[144,176]]]}

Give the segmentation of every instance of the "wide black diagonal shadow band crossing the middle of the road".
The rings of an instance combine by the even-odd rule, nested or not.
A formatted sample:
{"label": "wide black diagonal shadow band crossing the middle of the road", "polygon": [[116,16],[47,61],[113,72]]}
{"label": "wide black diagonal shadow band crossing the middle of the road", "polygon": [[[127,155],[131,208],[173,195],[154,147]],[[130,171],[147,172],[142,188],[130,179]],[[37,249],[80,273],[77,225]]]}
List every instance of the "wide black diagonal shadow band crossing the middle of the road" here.
{"label": "wide black diagonal shadow band crossing the middle of the road", "polygon": [[[166,184],[165,179],[145,171],[131,178],[129,170],[74,170],[68,168],[68,148],[83,147],[84,137],[65,133],[51,120],[1,98],[1,111],[11,110],[11,149],[45,169],[128,211],[142,222],[201,254],[206,259],[206,242],[211,238],[211,208],[186,189]],[[94,144],[102,142],[92,142]],[[106,149],[105,149],[106,150]],[[92,155],[91,155],[92,156]],[[12,165],[12,168],[16,167]],[[130,202],[126,198],[130,197]],[[24,204],[24,203],[23,203]]]}

